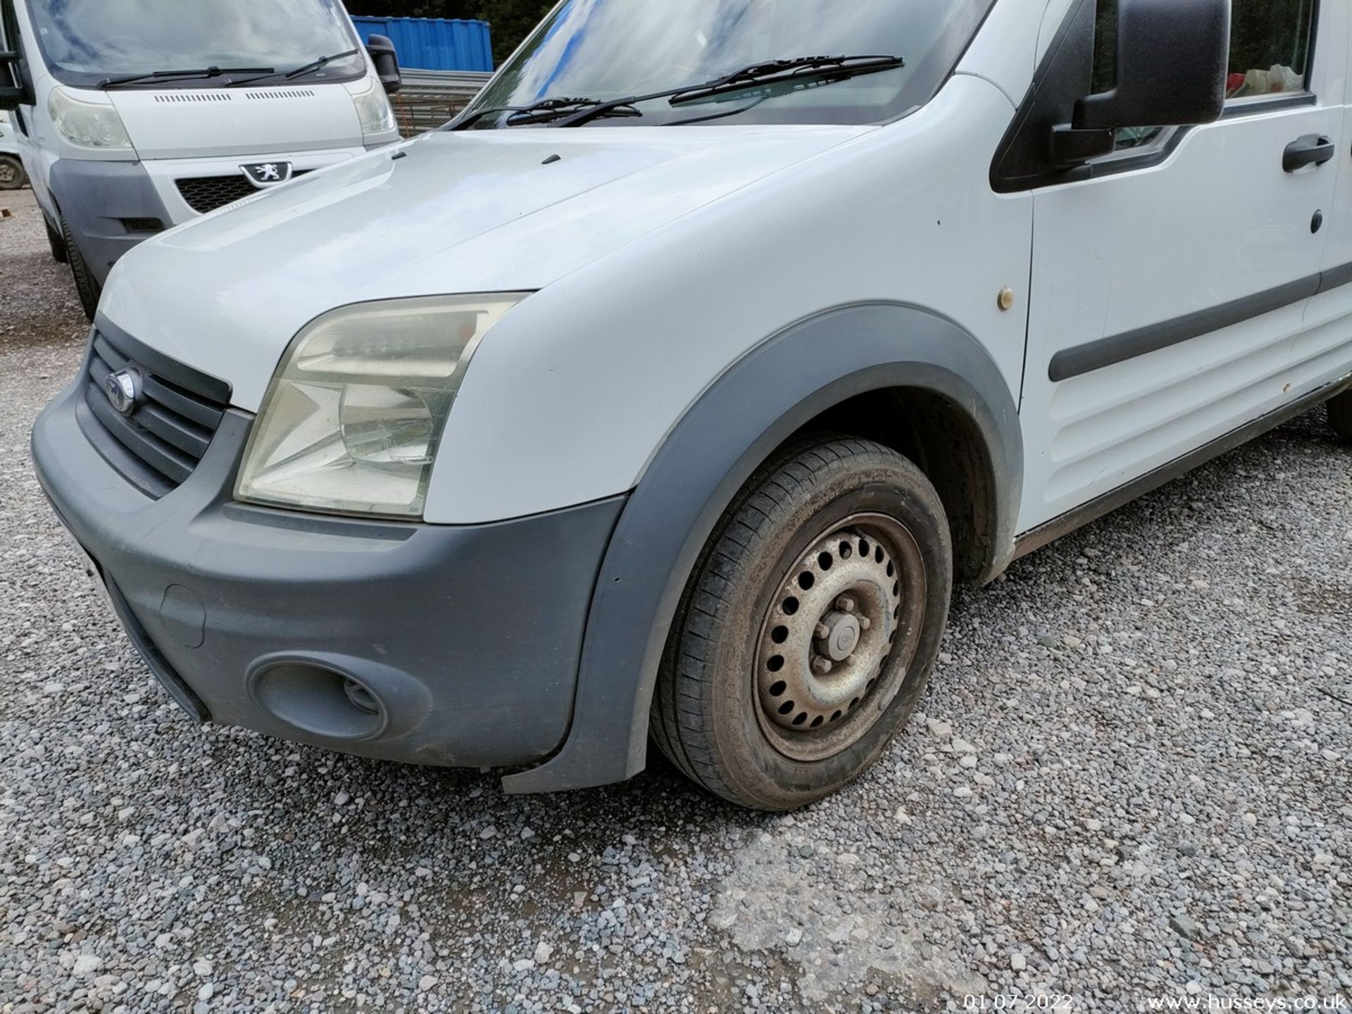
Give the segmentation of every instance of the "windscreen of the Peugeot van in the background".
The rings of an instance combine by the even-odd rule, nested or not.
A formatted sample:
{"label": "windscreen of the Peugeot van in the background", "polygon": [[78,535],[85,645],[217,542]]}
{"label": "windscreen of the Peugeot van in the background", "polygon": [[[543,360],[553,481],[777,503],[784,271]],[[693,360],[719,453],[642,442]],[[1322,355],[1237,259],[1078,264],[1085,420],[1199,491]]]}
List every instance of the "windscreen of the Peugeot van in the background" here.
{"label": "windscreen of the Peugeot van in the background", "polygon": [[[62,84],[97,88],[108,80],[169,70],[227,73],[158,77],[143,87],[212,88],[230,68],[306,66],[357,49],[337,0],[27,0],[47,69]],[[358,55],[307,73],[306,81],[347,81],[365,73]],[[243,78],[245,74],[237,77]],[[285,84],[269,78],[266,84]]]}

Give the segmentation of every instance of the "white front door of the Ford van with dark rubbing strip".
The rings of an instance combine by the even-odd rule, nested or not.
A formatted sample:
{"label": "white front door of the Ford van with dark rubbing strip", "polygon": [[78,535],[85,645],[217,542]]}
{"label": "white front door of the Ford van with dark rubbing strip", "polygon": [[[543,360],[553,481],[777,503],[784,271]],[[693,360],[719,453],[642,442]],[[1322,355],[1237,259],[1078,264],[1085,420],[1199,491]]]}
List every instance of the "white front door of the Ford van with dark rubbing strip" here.
{"label": "white front door of the Ford van with dark rubbing strip", "polygon": [[[1115,7],[1072,5],[1048,87],[1057,59],[1090,57],[1086,31],[1094,91],[1113,87]],[[1034,192],[1021,531],[1293,397],[1328,237],[1352,228],[1333,204],[1347,22],[1347,4],[1234,0],[1220,122],[1121,131],[1075,173],[1019,181]]]}

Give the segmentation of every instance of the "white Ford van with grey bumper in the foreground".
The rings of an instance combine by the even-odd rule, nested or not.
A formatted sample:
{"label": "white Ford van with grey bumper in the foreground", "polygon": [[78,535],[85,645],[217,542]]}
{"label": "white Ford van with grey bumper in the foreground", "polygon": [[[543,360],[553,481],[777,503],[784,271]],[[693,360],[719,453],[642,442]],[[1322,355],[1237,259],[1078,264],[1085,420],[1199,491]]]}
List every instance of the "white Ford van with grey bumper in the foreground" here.
{"label": "white Ford van with grey bumper in the foreground", "polygon": [[[143,243],[34,458],[199,721],[802,806],[953,581],[1328,402],[1311,0],[564,0],[446,130]],[[1293,493],[1298,495],[1298,493]]]}

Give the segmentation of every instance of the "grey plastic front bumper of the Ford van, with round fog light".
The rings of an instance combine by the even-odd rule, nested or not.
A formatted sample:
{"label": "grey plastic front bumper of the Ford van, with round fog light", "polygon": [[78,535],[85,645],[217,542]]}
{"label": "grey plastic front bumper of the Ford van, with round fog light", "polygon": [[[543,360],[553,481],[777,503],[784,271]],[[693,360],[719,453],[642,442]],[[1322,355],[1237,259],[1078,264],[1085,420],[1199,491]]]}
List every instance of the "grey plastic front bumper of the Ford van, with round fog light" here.
{"label": "grey plastic front bumper of the Ford van, with round fog light", "polygon": [[34,427],[38,479],[189,713],[448,767],[564,741],[623,498],[462,527],[249,507],[231,489],[251,416],[230,410],[192,476],[151,499],[85,437],[80,388]]}

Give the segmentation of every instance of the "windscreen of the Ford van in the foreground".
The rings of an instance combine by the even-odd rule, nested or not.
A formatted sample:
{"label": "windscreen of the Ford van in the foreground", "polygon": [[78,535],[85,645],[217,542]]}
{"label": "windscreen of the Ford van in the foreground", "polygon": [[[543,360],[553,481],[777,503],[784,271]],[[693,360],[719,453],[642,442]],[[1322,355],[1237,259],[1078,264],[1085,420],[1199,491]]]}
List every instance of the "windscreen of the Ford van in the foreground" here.
{"label": "windscreen of the Ford van in the foreground", "polygon": [[[488,110],[585,96],[607,101],[695,87],[804,57],[899,57],[903,66],[831,80],[802,74],[707,101],[642,101],[591,126],[873,123],[923,105],[948,78],[992,0],[566,0],[466,111],[476,127],[531,118]],[[535,118],[538,120],[538,118]]]}

